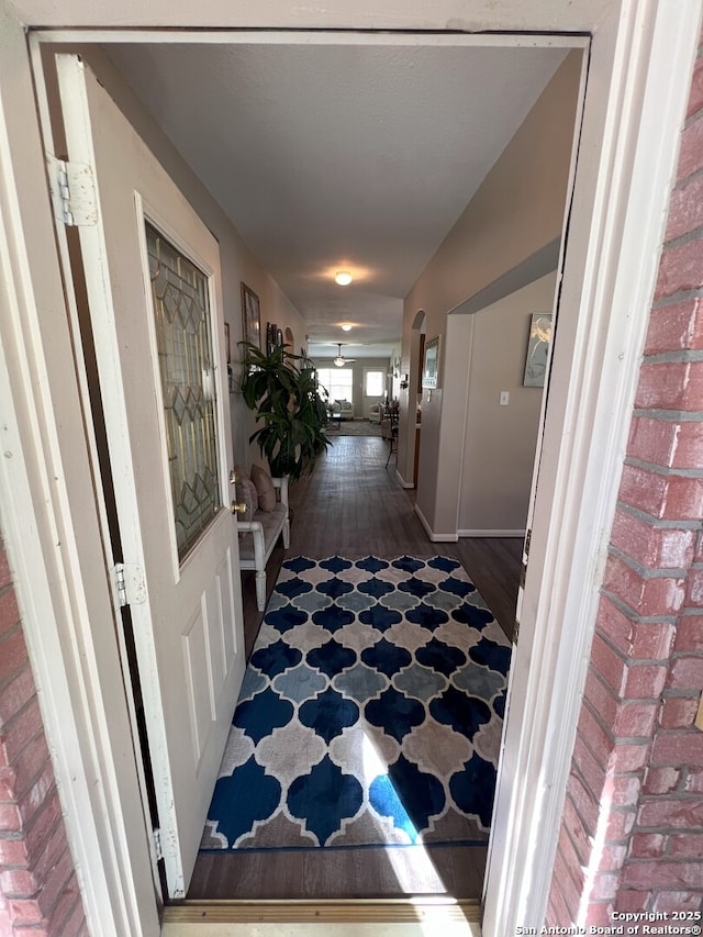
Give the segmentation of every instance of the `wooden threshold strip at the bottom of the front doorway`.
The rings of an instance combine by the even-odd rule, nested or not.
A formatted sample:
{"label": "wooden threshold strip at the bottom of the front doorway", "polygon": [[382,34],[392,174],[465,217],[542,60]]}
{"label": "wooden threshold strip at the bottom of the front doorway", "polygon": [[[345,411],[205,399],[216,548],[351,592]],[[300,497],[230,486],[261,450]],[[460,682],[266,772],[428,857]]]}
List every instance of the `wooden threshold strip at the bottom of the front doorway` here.
{"label": "wooden threshold strip at the bottom of the front doorway", "polygon": [[354,901],[186,901],[164,908],[169,924],[429,924],[480,922],[476,899],[355,899]]}

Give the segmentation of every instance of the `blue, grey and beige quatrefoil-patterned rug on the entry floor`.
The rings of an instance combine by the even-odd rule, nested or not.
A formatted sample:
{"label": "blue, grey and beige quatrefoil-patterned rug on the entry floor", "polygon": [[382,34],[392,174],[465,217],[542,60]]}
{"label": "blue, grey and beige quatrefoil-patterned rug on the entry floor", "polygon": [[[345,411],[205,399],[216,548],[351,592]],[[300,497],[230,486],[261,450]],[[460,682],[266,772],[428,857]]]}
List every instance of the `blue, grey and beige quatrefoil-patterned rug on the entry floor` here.
{"label": "blue, grey and beige quatrefoil-patterned rug on the entry floor", "polygon": [[486,843],[509,666],[454,559],[287,560],[201,848]]}

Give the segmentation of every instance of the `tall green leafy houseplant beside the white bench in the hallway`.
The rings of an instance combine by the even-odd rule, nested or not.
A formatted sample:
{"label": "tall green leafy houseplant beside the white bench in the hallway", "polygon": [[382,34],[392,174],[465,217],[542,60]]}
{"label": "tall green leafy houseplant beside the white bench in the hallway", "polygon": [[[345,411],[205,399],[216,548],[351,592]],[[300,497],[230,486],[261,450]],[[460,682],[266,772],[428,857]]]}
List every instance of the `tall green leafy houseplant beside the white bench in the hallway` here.
{"label": "tall green leafy houseplant beside the white bench in the hallway", "polygon": [[297,367],[298,355],[277,345],[270,354],[242,342],[245,356],[242,394],[263,424],[249,442],[266,456],[274,476],[291,481],[309,469],[330,445],[324,428],[327,411],[314,368]]}

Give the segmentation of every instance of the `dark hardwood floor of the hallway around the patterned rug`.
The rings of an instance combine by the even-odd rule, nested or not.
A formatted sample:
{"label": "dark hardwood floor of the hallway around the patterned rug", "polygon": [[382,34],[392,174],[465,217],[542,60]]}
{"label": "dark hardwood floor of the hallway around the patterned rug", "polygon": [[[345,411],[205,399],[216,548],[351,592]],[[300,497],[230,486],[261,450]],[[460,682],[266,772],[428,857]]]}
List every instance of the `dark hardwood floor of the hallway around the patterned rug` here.
{"label": "dark hardwood floor of the hallway around the patterned rug", "polygon": [[[267,568],[268,594],[286,556],[313,559],[373,554],[392,558],[437,554],[458,559],[512,637],[522,540],[471,538],[432,543],[414,513],[414,491],[402,489],[388,443],[378,437],[338,436],[314,470],[291,489],[288,553],[279,546]],[[254,573],[242,577],[247,657],[264,613],[256,609]],[[188,892],[202,899],[349,899],[451,895],[479,899],[484,847],[412,849],[310,849],[300,852],[202,854]]]}

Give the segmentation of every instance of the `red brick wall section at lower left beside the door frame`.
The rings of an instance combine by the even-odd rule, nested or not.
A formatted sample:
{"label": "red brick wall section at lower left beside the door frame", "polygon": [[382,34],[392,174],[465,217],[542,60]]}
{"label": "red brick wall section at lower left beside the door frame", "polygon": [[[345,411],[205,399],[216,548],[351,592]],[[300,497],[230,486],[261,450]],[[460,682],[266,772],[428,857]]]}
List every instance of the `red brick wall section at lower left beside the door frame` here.
{"label": "red brick wall section at lower left beside the door frame", "polygon": [[87,934],[0,534],[0,935]]}

